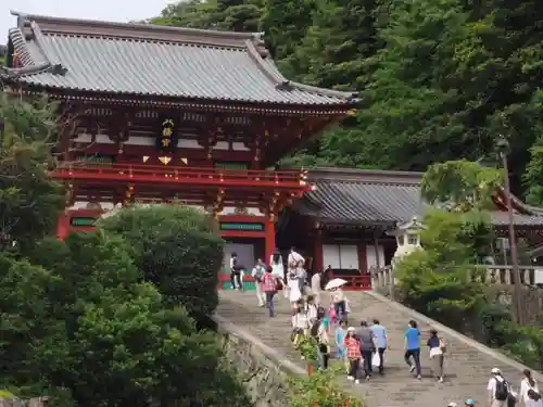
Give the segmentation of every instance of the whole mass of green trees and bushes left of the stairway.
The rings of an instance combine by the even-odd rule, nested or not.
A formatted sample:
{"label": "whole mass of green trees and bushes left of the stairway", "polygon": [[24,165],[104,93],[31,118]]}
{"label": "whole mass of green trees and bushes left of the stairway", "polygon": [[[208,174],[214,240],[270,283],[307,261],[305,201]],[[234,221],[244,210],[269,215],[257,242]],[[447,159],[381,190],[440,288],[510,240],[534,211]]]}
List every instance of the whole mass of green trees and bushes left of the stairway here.
{"label": "whole mass of green trees and bushes left of the stairway", "polygon": [[[53,407],[249,407],[219,339],[189,315],[216,305],[222,241],[207,218],[176,207],[135,209],[111,219],[119,233],[99,229],[58,241],[53,226],[64,196],[47,177],[55,106],[5,99],[1,107],[2,394],[51,395]],[[131,229],[139,227],[148,238]],[[153,266],[163,271],[154,280]],[[185,284],[195,274],[211,289]]]}

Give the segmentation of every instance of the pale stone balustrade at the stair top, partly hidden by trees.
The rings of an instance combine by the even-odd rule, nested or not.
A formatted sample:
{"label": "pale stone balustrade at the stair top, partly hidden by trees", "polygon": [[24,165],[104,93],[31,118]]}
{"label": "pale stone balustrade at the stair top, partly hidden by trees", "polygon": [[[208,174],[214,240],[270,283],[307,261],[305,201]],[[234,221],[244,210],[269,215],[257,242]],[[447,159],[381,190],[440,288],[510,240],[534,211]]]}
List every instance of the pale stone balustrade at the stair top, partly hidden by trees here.
{"label": "pale stone balustrade at the stair top, partly hidden by trees", "polygon": [[[514,284],[515,275],[513,266],[476,266],[481,272],[475,274],[472,277],[475,281],[489,284]],[[541,285],[543,284],[543,267],[542,266],[519,266],[520,282],[525,285]],[[369,269],[371,275],[371,287],[382,288],[390,287],[393,276],[392,267],[371,267]]]}

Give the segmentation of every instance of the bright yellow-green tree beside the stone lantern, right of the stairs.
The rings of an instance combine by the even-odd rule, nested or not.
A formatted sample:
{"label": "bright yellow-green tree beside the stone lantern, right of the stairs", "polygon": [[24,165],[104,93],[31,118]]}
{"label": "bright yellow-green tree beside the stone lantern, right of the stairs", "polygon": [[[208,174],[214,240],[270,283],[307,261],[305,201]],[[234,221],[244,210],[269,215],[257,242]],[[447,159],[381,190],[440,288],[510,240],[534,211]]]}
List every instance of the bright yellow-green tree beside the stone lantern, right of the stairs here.
{"label": "bright yellow-green tree beside the stone lantern, right of the stairs", "polygon": [[484,302],[481,283],[473,280],[479,270],[475,266],[477,247],[469,240],[469,218],[434,209],[424,222],[424,250],[396,265],[401,295],[414,309],[463,329]]}

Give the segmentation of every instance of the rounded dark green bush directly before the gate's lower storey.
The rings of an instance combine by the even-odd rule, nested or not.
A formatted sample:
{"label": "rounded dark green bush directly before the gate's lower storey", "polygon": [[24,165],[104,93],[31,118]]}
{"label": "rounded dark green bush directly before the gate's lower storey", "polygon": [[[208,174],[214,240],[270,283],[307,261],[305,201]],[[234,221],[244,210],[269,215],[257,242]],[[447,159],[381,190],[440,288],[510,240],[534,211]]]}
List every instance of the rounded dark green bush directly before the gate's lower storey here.
{"label": "rounded dark green bush directly before the gate's lower storey", "polygon": [[223,240],[213,219],[190,207],[159,205],[123,209],[101,226],[122,236],[136,265],[169,304],[182,304],[198,320],[218,303]]}

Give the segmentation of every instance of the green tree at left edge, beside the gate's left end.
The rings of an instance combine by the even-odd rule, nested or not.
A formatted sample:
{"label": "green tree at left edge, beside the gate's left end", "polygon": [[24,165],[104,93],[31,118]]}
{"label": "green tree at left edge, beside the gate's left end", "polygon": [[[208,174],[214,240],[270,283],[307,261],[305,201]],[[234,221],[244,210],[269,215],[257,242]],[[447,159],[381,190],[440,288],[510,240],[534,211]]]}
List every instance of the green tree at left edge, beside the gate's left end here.
{"label": "green tree at left edge, beside the gate's left end", "polygon": [[54,104],[3,94],[5,131],[0,150],[0,246],[24,249],[52,233],[64,204],[62,187],[49,178],[58,137]]}

